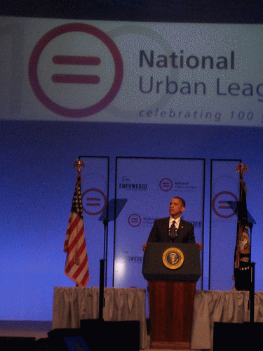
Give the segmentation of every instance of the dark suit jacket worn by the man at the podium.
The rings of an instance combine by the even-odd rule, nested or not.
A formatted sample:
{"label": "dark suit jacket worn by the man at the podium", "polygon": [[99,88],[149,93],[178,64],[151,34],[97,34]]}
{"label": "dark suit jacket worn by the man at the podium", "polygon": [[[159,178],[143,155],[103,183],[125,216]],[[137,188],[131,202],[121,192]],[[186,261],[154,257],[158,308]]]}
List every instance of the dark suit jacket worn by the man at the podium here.
{"label": "dark suit jacket worn by the man at the podium", "polygon": [[[172,239],[169,237],[169,220],[170,217],[154,220],[154,225],[148,238],[149,242],[172,242]],[[181,218],[178,234],[173,242],[195,243],[194,225]]]}

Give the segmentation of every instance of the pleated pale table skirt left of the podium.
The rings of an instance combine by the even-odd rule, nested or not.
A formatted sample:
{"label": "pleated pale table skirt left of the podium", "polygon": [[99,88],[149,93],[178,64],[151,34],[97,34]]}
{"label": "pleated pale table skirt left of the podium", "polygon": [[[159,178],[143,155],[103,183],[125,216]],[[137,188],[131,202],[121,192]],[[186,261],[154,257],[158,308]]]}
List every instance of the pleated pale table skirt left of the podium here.
{"label": "pleated pale table skirt left of the podium", "polygon": [[[99,317],[99,288],[55,287],[53,329],[79,328],[81,319]],[[104,289],[104,321],[140,321],[140,348],[147,343],[144,289]]]}

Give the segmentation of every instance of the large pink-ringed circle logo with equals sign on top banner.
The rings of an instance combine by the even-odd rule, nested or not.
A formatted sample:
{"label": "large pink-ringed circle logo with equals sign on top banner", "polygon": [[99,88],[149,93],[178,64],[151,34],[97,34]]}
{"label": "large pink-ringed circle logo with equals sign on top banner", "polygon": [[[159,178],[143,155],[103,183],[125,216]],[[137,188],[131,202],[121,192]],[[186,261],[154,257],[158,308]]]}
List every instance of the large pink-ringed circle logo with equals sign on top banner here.
{"label": "large pink-ringed circle logo with equals sign on top banner", "polygon": [[[45,60],[41,56],[48,47],[50,53]],[[108,70],[110,63],[112,67]],[[48,110],[65,117],[88,117],[104,110],[116,97],[122,80],[119,48],[92,25],[69,23],[51,29],[36,44],[29,59],[29,81],[36,98]],[[70,96],[72,86],[75,91]],[[69,98],[60,99],[67,94]],[[73,106],[74,96],[81,101],[81,107]]]}

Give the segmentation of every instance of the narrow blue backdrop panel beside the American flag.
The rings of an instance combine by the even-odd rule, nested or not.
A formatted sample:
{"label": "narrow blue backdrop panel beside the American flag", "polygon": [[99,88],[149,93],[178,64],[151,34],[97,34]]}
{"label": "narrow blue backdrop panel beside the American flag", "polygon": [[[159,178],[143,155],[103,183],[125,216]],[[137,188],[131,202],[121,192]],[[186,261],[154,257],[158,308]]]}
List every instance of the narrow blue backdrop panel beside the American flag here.
{"label": "narrow blue backdrop panel beside the American flag", "polygon": [[82,157],[83,221],[88,251],[90,281],[100,286],[100,260],[104,255],[104,225],[101,215],[107,208],[109,193],[109,157]]}

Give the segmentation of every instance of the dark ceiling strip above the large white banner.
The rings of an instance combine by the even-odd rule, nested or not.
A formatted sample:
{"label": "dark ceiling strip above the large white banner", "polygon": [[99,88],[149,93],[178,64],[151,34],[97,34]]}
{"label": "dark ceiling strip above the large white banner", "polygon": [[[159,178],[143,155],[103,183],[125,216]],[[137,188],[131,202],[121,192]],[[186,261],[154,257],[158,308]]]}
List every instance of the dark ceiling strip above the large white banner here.
{"label": "dark ceiling strip above the large white banner", "polygon": [[145,22],[262,23],[263,1],[3,0],[0,14]]}

